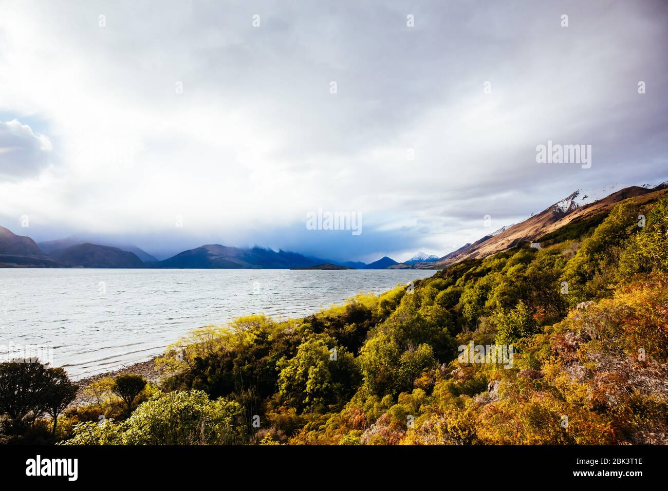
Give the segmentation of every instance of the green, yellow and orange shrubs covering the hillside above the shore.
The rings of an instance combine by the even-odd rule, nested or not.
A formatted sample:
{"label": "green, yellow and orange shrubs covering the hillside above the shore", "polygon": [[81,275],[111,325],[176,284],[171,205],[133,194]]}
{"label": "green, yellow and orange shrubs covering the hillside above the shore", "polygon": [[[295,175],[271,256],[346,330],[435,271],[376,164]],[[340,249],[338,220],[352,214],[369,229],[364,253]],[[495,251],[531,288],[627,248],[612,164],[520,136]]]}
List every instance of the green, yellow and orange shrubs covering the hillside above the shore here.
{"label": "green, yellow and orange shrubs covering the hillside above the shore", "polygon": [[303,319],[197,329],[160,389],[114,406],[112,381],[89,387],[63,438],[668,444],[668,199],[590,225]]}

